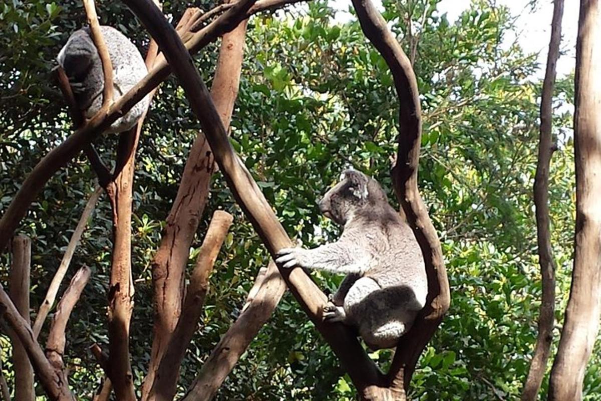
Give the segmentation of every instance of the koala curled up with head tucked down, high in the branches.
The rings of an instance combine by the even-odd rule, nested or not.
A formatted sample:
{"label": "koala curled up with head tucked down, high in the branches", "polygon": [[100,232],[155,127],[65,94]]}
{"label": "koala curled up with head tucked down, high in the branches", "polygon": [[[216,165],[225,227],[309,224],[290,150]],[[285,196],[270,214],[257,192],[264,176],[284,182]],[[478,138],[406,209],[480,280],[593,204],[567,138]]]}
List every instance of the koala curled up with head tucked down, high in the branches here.
{"label": "koala curled up with head tucked down, high in the branches", "polygon": [[[113,68],[113,100],[129,91],[148,73],[138,48],[124,34],[111,26],[100,26],[108,47]],[[84,112],[93,117],[102,106],[105,77],[102,61],[94,45],[89,27],[79,29],[67,40],[56,61],[69,78],[73,96]],[[148,96],[133,106],[129,112],[112,123],[107,132],[118,133],[132,128],[148,107]]]}

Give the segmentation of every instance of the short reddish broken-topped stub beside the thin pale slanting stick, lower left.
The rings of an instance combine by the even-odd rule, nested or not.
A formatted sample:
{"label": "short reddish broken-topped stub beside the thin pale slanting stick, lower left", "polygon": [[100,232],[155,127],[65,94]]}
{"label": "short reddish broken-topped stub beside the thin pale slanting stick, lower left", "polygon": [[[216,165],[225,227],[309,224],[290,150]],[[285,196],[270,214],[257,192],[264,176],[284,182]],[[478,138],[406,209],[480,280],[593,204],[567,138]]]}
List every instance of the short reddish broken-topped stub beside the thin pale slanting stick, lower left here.
{"label": "short reddish broken-topped stub beside the thin pale slanting stick, lower left", "polygon": [[90,274],[91,270],[87,266],[79,269],[73,275],[69,287],[67,287],[61,301],[56,306],[56,312],[52,318],[52,325],[46,341],[46,357],[55,369],[64,369],[63,354],[65,352],[67,322],[69,322],[71,311],[79,301],[85,285],[90,280]]}

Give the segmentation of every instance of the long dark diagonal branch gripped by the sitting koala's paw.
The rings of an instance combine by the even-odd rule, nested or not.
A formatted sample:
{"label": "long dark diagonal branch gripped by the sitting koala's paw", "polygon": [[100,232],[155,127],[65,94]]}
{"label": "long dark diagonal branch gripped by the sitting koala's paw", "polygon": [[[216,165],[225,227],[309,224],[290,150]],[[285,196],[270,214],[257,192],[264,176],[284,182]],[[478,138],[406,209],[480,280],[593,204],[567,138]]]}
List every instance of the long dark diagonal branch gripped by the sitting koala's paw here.
{"label": "long dark diagonal branch gripped by the sitting koala's paw", "polygon": [[[290,238],[279,223],[267,200],[246,170],[245,165],[236,155],[227,138],[215,105],[210,99],[209,90],[194,62],[186,52],[186,47],[180,41],[177,33],[165,20],[160,11],[147,0],[126,0],[127,5],[146,26],[150,34],[159,43],[163,54],[168,58],[175,75],[186,92],[192,110],[199,118],[209,144],[215,155],[215,160],[224,174],[234,197],[245,211],[249,221],[269,249],[272,256],[285,247],[292,246]],[[246,1],[246,5],[252,4]],[[234,10],[236,6],[231,8]],[[226,13],[227,14],[227,13]],[[224,14],[225,15],[225,14]],[[382,381],[379,370],[365,353],[355,335],[340,323],[326,324],[322,322],[321,310],[326,304],[326,296],[319,290],[311,278],[302,269],[296,268],[281,271],[291,292],[301,303],[302,307],[324,335],[332,349],[336,352],[344,368],[355,382],[363,388],[379,384]]]}

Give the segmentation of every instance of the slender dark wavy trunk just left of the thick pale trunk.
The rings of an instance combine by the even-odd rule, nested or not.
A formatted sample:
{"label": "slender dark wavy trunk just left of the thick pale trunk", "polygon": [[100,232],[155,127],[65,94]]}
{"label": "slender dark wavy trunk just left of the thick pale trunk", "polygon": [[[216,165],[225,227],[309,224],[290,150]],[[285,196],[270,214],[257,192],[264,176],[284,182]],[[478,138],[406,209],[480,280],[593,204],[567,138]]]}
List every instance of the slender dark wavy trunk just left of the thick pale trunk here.
{"label": "slender dark wavy trunk just left of the thick pale trunk", "polygon": [[538,337],[528,378],[526,378],[524,384],[522,401],[537,399],[540,384],[547,370],[555,323],[555,260],[553,259],[551,230],[549,228],[549,167],[551,165],[551,155],[555,148],[551,135],[553,117],[551,106],[555,86],[555,66],[560,54],[563,3],[563,0],[555,0],[547,70],[540,99],[540,141],[538,142],[538,164],[534,179],[534,206],[536,207],[538,264],[540,265],[543,295],[540,304],[540,316],[538,316]]}

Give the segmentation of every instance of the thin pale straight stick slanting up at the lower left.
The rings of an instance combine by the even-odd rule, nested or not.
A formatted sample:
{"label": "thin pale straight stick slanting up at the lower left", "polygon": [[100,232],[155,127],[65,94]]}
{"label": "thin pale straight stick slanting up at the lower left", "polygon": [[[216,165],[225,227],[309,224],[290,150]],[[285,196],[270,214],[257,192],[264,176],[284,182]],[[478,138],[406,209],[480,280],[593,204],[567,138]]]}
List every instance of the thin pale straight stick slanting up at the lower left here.
{"label": "thin pale straight stick slanting up at the lower left", "polygon": [[35,339],[37,339],[38,335],[40,335],[41,328],[44,325],[44,320],[46,320],[46,316],[48,316],[48,313],[54,304],[56,294],[58,293],[61,283],[63,282],[63,278],[65,277],[65,274],[67,274],[67,270],[69,269],[69,265],[73,259],[73,254],[75,253],[75,248],[77,247],[79,240],[84,233],[85,227],[88,224],[88,220],[90,219],[90,216],[92,215],[94,207],[96,207],[96,203],[98,202],[101,194],[102,188],[96,187],[94,192],[90,195],[88,202],[85,204],[84,211],[81,213],[78,224],[73,231],[71,239],[69,240],[69,245],[67,245],[67,249],[65,249],[63,260],[61,260],[61,264],[58,266],[58,269],[56,269],[56,273],[54,274],[52,281],[50,281],[50,286],[48,287],[44,301],[41,303],[40,309],[35,315],[35,322],[33,326]]}

